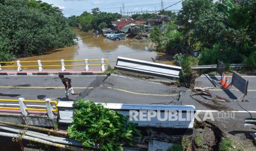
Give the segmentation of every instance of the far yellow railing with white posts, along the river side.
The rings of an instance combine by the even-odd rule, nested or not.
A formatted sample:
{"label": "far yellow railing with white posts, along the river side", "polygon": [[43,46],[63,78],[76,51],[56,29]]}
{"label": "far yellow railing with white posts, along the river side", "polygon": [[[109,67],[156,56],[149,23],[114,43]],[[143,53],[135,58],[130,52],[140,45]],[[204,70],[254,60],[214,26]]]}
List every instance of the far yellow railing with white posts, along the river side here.
{"label": "far yellow railing with white posts, along the river side", "polygon": [[[98,64],[90,64],[89,62],[91,61],[100,61],[101,63]],[[55,63],[58,62],[60,65],[42,65],[42,63]],[[79,65],[66,65],[66,62],[84,62],[83,64]],[[1,66],[1,63],[4,64],[9,64],[9,63],[17,63],[17,65],[6,65],[6,66]],[[37,65],[21,65],[21,63],[37,63]],[[101,66],[101,71],[105,71],[105,66],[108,66],[108,60],[107,59],[84,59],[84,60],[37,60],[37,61],[1,61],[0,62],[0,71],[2,71],[2,68],[9,68],[9,67],[17,67],[17,71],[22,71],[22,67],[38,67],[39,71],[43,71],[43,67],[61,67],[61,71],[65,71],[66,67],[72,67],[72,66],[84,66],[85,71],[89,71],[90,66]]]}

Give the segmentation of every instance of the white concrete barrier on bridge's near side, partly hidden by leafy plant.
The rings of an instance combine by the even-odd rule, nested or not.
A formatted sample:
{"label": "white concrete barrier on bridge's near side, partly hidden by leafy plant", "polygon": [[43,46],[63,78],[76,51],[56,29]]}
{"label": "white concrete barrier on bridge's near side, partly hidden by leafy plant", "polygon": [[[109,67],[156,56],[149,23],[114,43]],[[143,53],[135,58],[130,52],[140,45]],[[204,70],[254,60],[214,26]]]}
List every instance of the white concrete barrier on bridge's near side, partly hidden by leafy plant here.
{"label": "white concrete barrier on bridge's near side, partly hidden by leafy plant", "polygon": [[[96,103],[99,104],[99,103]],[[168,127],[174,129],[193,129],[194,106],[162,104],[122,104],[100,103],[105,108],[118,111],[129,117],[132,123],[141,127]],[[71,124],[75,114],[72,101],[58,102],[59,123]]]}

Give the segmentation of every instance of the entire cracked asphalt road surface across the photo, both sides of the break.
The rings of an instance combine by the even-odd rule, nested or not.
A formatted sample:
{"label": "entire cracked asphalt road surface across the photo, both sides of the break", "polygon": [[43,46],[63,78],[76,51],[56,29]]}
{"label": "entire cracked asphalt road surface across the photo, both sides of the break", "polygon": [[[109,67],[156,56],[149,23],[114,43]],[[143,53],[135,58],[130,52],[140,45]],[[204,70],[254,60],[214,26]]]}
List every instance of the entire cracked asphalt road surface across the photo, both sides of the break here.
{"label": "entire cracked asphalt road surface across the photo, both sides of the break", "polygon": [[[206,112],[213,113],[213,123],[227,135],[231,136],[235,143],[241,144],[243,148],[256,150],[252,137],[249,134],[255,131],[255,127],[243,127],[244,119],[256,118],[256,76],[244,76],[249,80],[248,102],[234,101],[242,93],[232,87],[230,90],[215,88],[210,80],[204,76],[196,79],[196,86],[213,87],[210,91],[230,102],[219,102],[228,107],[228,111],[234,112],[235,118],[221,118],[220,110],[209,108],[190,97],[191,90],[175,88],[149,80],[129,77],[127,75],[84,75],[67,76],[72,79],[72,86],[76,92],[82,92],[84,100],[108,103],[146,103],[146,104],[182,104],[193,105],[204,117]],[[212,77],[220,79],[220,77]],[[231,78],[230,78],[231,80]],[[230,81],[231,82],[231,81]],[[57,101],[67,101],[64,94],[64,85],[58,76],[0,76],[0,99],[18,99],[24,97],[26,100],[45,100],[51,98]],[[180,95],[181,94],[181,95]],[[80,96],[70,96],[77,100]],[[13,103],[13,102],[4,102]],[[240,145],[239,145],[240,146]]]}

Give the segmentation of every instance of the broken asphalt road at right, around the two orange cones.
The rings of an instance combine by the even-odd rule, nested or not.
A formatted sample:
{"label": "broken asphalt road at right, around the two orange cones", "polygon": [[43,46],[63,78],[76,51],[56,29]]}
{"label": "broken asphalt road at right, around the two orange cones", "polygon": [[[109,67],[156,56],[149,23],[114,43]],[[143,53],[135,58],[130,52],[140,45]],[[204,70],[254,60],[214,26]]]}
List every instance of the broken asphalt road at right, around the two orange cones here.
{"label": "broken asphalt road at right, around the two orange cones", "polygon": [[[212,79],[220,79],[220,77],[211,77]],[[216,109],[211,109],[206,106],[203,106],[199,102],[190,98],[190,94],[192,91],[186,91],[183,93],[179,102],[182,105],[193,105],[199,112],[199,117],[202,119],[206,112],[213,113],[214,121],[208,120],[210,123],[213,123],[219,129],[224,132],[228,137],[231,137],[231,140],[234,141],[234,144],[237,148],[243,148],[243,150],[256,150],[252,137],[250,133],[255,133],[256,126],[246,126],[244,127],[244,119],[246,118],[256,118],[256,76],[243,76],[243,78],[249,80],[248,85],[248,94],[246,96],[246,100],[249,102],[241,102],[241,101],[233,101],[236,100],[237,97],[241,96],[242,93],[237,91],[234,86],[232,86],[231,90],[222,90],[220,88],[215,88],[215,86],[210,82],[208,78],[205,76],[201,76],[195,80],[195,86],[201,87],[211,87],[214,89],[209,89],[213,94],[219,95],[224,98],[228,98],[230,102],[220,102],[221,104],[225,104],[229,108],[232,109],[234,113],[234,117],[228,117],[228,112],[225,111],[216,111]],[[230,77],[230,82],[232,78]],[[200,99],[199,96],[197,98]]]}

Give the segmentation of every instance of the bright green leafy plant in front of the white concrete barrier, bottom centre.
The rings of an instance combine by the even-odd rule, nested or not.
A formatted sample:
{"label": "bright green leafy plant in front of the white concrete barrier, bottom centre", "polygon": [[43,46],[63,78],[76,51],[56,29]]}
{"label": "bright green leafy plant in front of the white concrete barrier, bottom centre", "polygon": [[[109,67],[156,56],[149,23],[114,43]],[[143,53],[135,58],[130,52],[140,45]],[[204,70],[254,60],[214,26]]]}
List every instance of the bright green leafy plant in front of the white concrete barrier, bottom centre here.
{"label": "bright green leafy plant in front of the white concrete barrier, bottom centre", "polygon": [[77,100],[73,106],[75,114],[72,125],[68,127],[68,135],[85,147],[123,150],[123,144],[133,146],[133,136],[140,136],[137,124],[129,123],[128,117],[104,108],[102,104]]}

